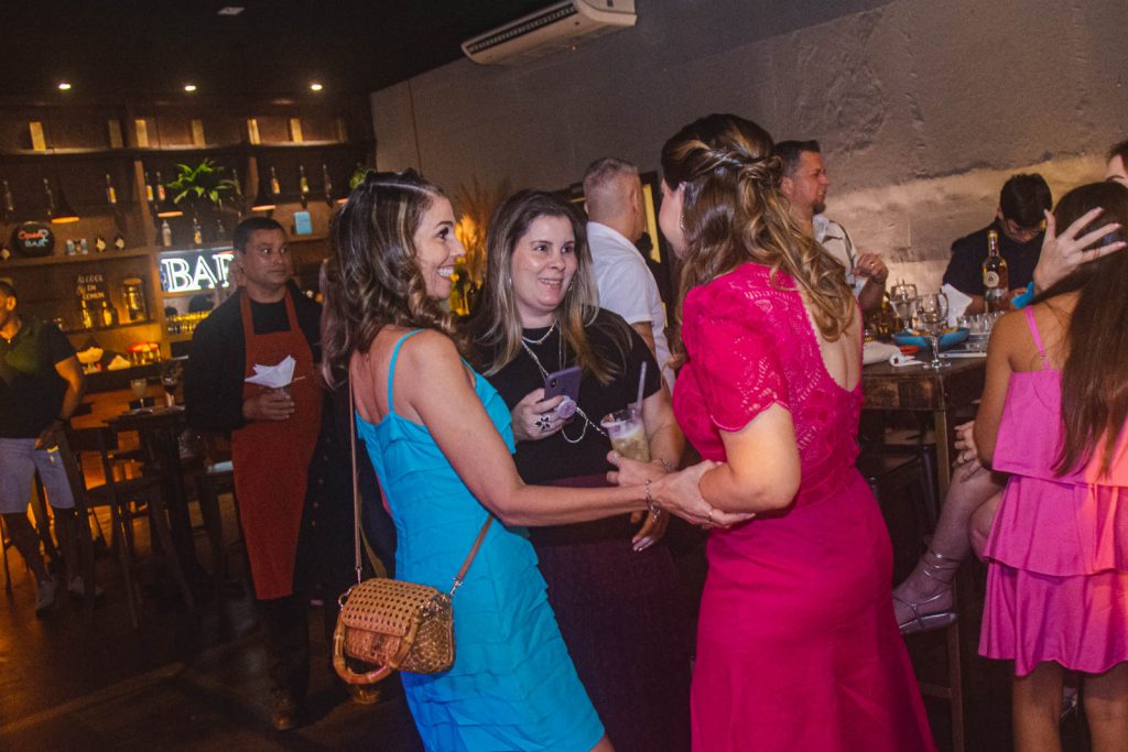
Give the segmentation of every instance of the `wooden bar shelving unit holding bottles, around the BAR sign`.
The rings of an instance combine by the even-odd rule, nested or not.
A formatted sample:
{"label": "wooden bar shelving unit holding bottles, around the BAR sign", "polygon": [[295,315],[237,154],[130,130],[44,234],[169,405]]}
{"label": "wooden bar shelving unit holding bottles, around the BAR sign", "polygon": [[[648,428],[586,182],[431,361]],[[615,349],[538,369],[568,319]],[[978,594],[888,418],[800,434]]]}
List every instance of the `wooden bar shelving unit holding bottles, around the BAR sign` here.
{"label": "wooden bar shelving unit holding bottles, around the BAR sign", "polygon": [[[252,143],[248,118],[255,120],[259,143]],[[300,141],[293,140],[296,118],[300,124]],[[33,122],[41,124],[45,150],[32,148]],[[203,139],[199,138],[201,131]],[[113,143],[118,138],[120,145]],[[50,225],[55,236],[53,255],[0,260],[0,278],[10,277],[16,284],[24,310],[49,320],[63,319],[77,345],[91,336],[107,350],[124,350],[139,339],[161,340],[167,356],[170,354],[167,345],[188,337],[167,334],[165,309],[183,311],[187,299],[199,293],[161,291],[159,263],[166,250],[187,249],[192,218],[186,213],[168,220],[174,236],[171,249],[155,245],[162,220],[156,219],[146,200],[147,183],[155,186],[159,172],[167,184],[176,165],[195,165],[210,158],[228,176],[232,170],[238,174],[244,200],[249,203],[258,192],[259,180],[267,179],[273,168],[282,184],[282,194],[272,214],[291,230],[293,213],[301,210],[298,183],[299,167],[303,167],[310,184],[307,211],[315,233],[291,232],[290,242],[294,247],[296,274],[308,281],[316,280],[317,265],[327,254],[326,233],[336,207],[324,197],[323,165],[334,186],[332,195],[336,197],[347,186],[356,165],[373,163],[373,154],[371,114],[362,97],[320,101],[138,100],[71,105],[26,104],[0,97],[0,178],[8,182],[15,204],[12,212],[5,212],[0,204],[0,241],[11,248],[9,236],[17,224],[45,221],[44,178],[51,184],[56,204],[64,193],[81,218],[73,224]],[[107,175],[117,194],[115,204],[106,197]],[[206,241],[215,237],[220,222],[230,238],[237,220],[238,212],[228,211],[202,221],[204,246],[214,245]],[[125,239],[124,250],[94,251],[97,236],[112,244],[116,235]],[[88,240],[90,253],[67,256],[67,240],[80,238]],[[89,274],[104,276],[118,318],[125,315],[122,280],[142,278],[149,309],[147,320],[92,330],[77,328],[77,277]]]}

